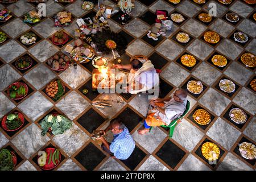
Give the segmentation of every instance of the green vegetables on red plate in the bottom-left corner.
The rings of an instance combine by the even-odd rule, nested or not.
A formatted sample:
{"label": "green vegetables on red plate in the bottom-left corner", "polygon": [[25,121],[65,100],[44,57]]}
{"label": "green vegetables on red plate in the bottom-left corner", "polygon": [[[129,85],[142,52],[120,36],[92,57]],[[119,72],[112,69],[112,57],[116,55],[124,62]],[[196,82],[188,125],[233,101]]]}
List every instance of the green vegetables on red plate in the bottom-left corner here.
{"label": "green vegetables on red plate in the bottom-left corner", "polygon": [[0,171],[12,171],[14,168],[11,152],[4,148],[0,151]]}

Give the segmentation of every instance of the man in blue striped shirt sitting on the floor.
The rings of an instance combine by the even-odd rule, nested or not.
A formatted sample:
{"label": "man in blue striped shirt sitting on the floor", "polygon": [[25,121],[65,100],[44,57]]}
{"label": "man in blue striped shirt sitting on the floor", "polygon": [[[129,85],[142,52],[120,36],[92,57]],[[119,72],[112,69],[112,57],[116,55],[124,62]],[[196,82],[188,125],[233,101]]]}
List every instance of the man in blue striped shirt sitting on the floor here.
{"label": "man in blue striped shirt sitting on the floor", "polygon": [[102,141],[102,149],[117,159],[125,160],[129,158],[135,148],[135,142],[127,127],[116,118],[110,122],[110,125],[104,132],[106,133],[109,130],[114,134],[114,139],[112,140],[112,143],[109,144],[105,138],[98,138]]}

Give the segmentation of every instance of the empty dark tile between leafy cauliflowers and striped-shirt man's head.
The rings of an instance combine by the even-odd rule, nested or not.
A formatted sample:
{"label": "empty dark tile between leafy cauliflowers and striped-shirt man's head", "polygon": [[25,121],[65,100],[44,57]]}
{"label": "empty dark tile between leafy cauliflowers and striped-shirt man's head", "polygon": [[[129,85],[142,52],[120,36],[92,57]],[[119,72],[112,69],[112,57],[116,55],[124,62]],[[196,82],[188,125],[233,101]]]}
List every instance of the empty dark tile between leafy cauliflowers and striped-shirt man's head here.
{"label": "empty dark tile between leafy cauliflowers and striped-shirt man's head", "polygon": [[77,122],[84,127],[89,133],[93,133],[106,119],[98,114],[94,109],[90,108],[83,114]]}

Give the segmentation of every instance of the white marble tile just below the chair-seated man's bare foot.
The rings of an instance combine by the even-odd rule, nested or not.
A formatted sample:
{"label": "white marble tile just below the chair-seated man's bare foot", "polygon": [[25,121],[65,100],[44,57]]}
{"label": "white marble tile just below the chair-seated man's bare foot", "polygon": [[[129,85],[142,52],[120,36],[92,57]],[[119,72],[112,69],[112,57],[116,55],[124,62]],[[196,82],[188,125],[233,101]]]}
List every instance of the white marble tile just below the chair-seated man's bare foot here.
{"label": "white marble tile just below the chair-seated man's bare foot", "polygon": [[139,143],[143,148],[145,148],[150,154],[154,152],[156,147],[167,137],[167,134],[164,133],[158,127],[154,127],[150,132],[140,135],[138,130],[136,130],[133,135],[133,139]]}

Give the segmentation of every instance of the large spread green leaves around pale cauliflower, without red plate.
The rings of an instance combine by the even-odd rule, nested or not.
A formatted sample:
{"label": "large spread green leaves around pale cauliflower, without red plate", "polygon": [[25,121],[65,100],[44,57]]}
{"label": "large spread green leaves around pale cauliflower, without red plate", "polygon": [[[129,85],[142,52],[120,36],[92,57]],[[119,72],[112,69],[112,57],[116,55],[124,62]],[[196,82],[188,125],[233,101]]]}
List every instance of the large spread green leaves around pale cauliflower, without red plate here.
{"label": "large spread green leaves around pale cauliflower, without red plate", "polygon": [[41,135],[46,135],[49,128],[52,130],[53,135],[63,134],[65,131],[72,127],[72,121],[65,118],[63,115],[60,115],[61,121],[59,122],[56,117],[53,117],[51,122],[48,122],[47,119],[51,114],[48,114],[42,121],[40,121],[40,125],[42,128]]}

